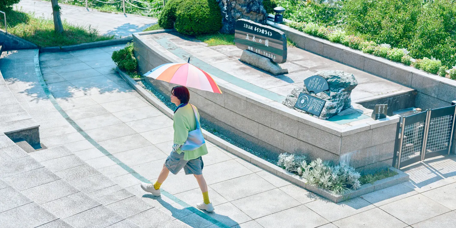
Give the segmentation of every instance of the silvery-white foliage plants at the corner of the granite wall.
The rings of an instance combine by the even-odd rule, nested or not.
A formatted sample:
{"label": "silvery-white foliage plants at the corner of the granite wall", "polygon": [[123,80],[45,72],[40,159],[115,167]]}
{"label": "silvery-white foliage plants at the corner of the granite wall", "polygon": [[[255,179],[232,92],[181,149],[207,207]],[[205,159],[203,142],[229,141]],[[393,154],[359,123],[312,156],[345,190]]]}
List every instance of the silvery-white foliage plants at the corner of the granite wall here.
{"label": "silvery-white foliage plants at the corner of the granite wall", "polygon": [[361,175],[346,162],[333,166],[320,158],[308,162],[305,155],[283,153],[279,155],[277,165],[302,176],[307,184],[328,189],[334,194],[342,194],[361,186]]}

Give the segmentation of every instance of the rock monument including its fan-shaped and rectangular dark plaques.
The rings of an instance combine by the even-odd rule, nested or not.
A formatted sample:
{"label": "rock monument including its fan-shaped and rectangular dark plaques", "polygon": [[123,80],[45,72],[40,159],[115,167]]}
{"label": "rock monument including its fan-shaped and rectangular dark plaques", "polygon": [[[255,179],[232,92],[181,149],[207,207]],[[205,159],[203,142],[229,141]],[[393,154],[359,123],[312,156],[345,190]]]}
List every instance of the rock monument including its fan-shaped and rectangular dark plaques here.
{"label": "rock monument including its fan-shaped and rectangular dark plaques", "polygon": [[[315,115],[319,119],[329,119],[332,116],[339,114],[342,110],[350,107],[352,103],[350,95],[352,90],[358,85],[358,81],[353,74],[344,73],[343,71],[320,71],[314,76],[311,76],[310,79],[308,78],[309,80],[306,79],[301,88],[293,89],[285,98],[283,104],[290,109],[297,110],[298,112]],[[321,80],[319,77],[324,80]],[[328,84],[329,90],[323,90],[325,88],[325,81]],[[315,99],[312,109],[302,109],[300,108],[300,105],[302,106],[306,103],[306,98],[303,98],[303,95],[301,94],[308,95],[306,96],[308,102],[310,102],[310,98],[316,98],[319,100]],[[302,102],[303,99],[304,102]],[[320,100],[324,101],[324,104],[322,104],[323,107],[318,115],[315,110],[318,111],[316,107],[319,108],[321,106]],[[301,104],[296,104],[298,101]],[[296,107],[296,105],[298,107]]]}

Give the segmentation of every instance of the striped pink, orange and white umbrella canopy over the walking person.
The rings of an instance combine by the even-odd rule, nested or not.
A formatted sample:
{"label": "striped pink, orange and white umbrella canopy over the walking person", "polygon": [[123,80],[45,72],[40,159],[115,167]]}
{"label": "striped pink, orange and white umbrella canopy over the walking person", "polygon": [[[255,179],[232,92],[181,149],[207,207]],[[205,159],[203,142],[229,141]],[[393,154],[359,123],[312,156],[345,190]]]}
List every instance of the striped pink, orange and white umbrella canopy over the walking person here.
{"label": "striped pink, orange and white umbrella canopy over the walking person", "polygon": [[155,67],[144,76],[212,93],[222,93],[208,73],[190,63],[166,63]]}

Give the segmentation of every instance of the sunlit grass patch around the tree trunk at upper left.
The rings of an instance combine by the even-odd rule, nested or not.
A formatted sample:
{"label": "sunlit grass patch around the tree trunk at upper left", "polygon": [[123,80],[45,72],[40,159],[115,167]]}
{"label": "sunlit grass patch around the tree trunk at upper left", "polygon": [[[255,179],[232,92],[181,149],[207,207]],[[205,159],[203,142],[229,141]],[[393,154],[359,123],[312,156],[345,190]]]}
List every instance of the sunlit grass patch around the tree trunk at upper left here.
{"label": "sunlit grass patch around the tree trunk at upper left", "polygon": [[[39,47],[68,46],[114,38],[114,36],[99,35],[98,30],[91,26],[79,26],[67,21],[62,21],[65,32],[56,34],[52,18],[35,16],[33,13],[17,9],[6,10],[5,13],[8,16],[8,32],[31,41]],[[1,22],[0,28],[5,29],[5,25]]]}

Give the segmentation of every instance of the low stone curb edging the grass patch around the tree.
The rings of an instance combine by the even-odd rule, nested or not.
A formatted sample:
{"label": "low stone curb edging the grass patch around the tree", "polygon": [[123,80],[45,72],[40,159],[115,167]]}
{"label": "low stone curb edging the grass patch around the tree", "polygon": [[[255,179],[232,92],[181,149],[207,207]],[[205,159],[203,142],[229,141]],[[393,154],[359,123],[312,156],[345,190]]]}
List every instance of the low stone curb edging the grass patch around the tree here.
{"label": "low stone curb edging the grass patch around the tree", "polygon": [[106,47],[118,44],[126,44],[128,42],[133,42],[133,37],[124,37],[120,39],[112,39],[107,41],[95,41],[90,43],[82,43],[63,47],[40,47],[40,52],[68,52],[93,47]]}

